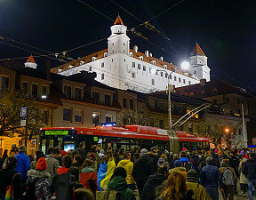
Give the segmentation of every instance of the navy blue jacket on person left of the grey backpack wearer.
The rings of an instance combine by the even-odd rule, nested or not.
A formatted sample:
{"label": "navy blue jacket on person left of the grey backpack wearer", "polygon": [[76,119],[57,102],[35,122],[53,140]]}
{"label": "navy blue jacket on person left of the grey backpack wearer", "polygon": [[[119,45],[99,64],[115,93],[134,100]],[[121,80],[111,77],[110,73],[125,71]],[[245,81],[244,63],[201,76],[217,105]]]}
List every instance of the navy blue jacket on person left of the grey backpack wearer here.
{"label": "navy blue jacket on person left of the grey backpack wearer", "polygon": [[218,167],[212,164],[206,164],[200,172],[200,184],[204,186],[204,188],[219,188],[219,185],[220,188],[223,188]]}

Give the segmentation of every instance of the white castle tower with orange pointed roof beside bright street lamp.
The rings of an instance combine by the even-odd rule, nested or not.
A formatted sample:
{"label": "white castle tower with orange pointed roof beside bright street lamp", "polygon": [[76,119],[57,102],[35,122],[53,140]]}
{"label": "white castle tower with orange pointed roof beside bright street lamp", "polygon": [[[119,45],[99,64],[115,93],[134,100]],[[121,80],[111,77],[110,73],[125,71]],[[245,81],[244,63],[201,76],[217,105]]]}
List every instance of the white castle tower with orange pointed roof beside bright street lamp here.
{"label": "white castle tower with orange pointed roof beside bright street lamp", "polygon": [[199,44],[196,43],[191,54],[188,71],[198,80],[206,79],[209,82],[211,69],[207,65],[207,57]]}

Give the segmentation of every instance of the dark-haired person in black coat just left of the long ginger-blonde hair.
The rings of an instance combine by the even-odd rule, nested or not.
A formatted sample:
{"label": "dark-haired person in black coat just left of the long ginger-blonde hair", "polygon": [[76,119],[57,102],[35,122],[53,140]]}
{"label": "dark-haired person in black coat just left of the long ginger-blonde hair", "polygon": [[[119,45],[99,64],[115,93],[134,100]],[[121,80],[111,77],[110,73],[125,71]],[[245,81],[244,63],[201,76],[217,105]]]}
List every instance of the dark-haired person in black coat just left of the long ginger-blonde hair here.
{"label": "dark-haired person in black coat just left of the long ginger-blonde hair", "polygon": [[141,200],[155,200],[156,187],[162,185],[163,181],[167,180],[168,175],[167,166],[160,165],[157,172],[148,177],[148,181],[142,191]]}

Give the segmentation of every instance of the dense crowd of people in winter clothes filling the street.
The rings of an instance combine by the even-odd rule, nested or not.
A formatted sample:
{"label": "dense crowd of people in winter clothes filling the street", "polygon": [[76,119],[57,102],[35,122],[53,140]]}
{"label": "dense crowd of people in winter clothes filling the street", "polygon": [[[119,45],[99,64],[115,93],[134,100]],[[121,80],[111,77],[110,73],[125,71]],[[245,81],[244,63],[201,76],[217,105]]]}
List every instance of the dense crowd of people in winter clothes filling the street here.
{"label": "dense crowd of people in winter clothes filling the street", "polygon": [[[0,159],[0,200],[233,200],[237,185],[250,200],[256,188],[256,156],[248,149],[153,147],[75,150],[48,148],[28,156],[13,145]],[[10,196],[12,196],[10,198]]]}

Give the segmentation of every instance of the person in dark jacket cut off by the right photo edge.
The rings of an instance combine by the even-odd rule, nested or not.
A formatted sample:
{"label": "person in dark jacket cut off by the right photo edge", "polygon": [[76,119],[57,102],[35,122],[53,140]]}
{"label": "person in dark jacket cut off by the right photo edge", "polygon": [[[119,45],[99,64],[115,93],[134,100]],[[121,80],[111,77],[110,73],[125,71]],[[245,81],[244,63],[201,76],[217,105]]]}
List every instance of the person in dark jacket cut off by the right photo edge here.
{"label": "person in dark jacket cut off by the right photo edge", "polygon": [[254,186],[254,189],[256,189],[256,156],[254,153],[251,153],[250,158],[245,161],[243,172],[248,182],[249,198],[253,200],[252,187]]}

